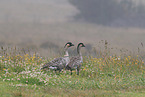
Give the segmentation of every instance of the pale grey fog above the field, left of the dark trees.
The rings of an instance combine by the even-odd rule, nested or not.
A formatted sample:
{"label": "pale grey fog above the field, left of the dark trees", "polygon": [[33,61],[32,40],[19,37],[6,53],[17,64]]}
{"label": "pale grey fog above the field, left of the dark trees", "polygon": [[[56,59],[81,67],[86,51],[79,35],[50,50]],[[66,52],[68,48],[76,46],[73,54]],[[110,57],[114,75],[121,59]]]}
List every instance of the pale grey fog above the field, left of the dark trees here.
{"label": "pale grey fog above the field, left of the dark trees", "polygon": [[65,22],[75,14],[67,0],[1,0],[0,22]]}

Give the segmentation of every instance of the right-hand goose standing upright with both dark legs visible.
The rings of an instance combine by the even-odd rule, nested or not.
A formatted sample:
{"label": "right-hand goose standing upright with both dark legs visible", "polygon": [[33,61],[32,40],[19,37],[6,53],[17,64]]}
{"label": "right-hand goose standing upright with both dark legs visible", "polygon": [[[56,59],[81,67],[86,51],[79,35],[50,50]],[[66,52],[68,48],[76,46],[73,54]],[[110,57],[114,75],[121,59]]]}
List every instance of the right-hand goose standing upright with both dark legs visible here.
{"label": "right-hand goose standing upright with both dark legs visible", "polygon": [[77,53],[78,56],[72,57],[70,59],[70,62],[66,65],[65,70],[70,70],[71,71],[71,75],[72,75],[72,70],[77,71],[77,75],[79,75],[79,70],[81,68],[81,63],[83,63],[83,57],[82,54],[80,52],[81,47],[85,47],[85,45],[83,43],[79,43],[77,46]]}

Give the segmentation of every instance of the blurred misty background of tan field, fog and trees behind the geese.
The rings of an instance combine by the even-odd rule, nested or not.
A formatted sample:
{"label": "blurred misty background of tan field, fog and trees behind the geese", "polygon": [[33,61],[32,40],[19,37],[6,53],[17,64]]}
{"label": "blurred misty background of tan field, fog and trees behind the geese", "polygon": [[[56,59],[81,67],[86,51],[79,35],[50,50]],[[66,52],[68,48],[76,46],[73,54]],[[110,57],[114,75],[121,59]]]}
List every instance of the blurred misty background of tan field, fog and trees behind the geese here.
{"label": "blurred misty background of tan field, fog and trees behind the geese", "polygon": [[115,54],[145,56],[145,1],[0,0],[1,47],[52,57],[62,54],[68,41],[86,44],[84,55],[95,56],[107,45]]}

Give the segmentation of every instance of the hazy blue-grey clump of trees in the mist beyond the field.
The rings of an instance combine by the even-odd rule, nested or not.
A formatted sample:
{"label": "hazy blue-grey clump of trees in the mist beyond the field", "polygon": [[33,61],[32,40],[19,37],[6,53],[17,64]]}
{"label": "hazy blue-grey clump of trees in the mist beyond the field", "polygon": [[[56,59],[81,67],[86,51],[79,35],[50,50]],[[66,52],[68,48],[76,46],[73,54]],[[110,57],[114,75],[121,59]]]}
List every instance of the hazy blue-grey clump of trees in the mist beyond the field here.
{"label": "hazy blue-grey clump of trees in the mist beyond the field", "polygon": [[132,0],[69,0],[79,11],[74,18],[101,25],[145,26],[145,5]]}

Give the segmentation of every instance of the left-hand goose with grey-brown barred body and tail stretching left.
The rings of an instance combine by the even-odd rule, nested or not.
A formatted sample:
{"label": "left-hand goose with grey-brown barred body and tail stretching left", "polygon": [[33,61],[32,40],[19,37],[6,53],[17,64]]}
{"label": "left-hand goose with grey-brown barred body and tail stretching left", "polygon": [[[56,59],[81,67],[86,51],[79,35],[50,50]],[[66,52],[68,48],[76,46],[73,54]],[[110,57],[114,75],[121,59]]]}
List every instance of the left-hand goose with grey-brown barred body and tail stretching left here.
{"label": "left-hand goose with grey-brown barred body and tail stretching left", "polygon": [[52,61],[44,64],[41,69],[49,68],[61,72],[61,70],[65,67],[65,65],[68,64],[70,61],[68,48],[71,46],[74,46],[74,44],[72,44],[71,42],[67,42],[64,46],[64,52],[65,52],[64,57],[53,59]]}

